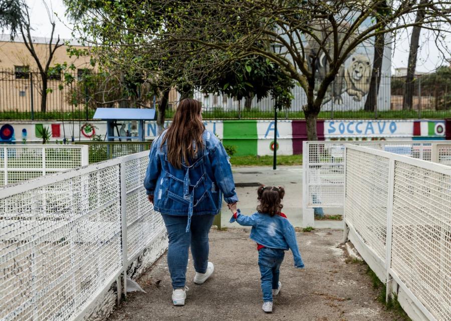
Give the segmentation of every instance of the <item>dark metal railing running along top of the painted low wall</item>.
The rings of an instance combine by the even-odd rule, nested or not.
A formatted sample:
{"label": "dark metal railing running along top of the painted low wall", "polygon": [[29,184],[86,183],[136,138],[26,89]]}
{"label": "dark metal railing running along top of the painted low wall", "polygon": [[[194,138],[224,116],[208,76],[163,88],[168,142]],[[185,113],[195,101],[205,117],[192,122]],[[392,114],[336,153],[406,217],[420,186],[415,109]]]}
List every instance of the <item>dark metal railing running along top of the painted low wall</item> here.
{"label": "dark metal railing running along top of the painted low wall", "polygon": [[[451,118],[451,87],[447,74],[428,74],[415,77],[412,104],[403,110],[405,77],[382,75],[376,103],[366,104],[371,95],[368,84],[371,75],[352,79],[337,75],[329,85],[321,106],[319,118]],[[73,81],[67,82],[68,79]],[[50,72],[47,90],[38,70],[0,70],[0,119],[11,120],[74,120],[91,119],[97,107],[153,108],[153,94],[146,85],[132,93],[121,83],[120,77],[93,70],[80,69],[63,73]],[[351,90],[350,88],[358,88]],[[304,118],[307,103],[304,90],[295,86],[290,108],[279,113],[280,118]],[[46,97],[46,103],[43,103]],[[274,99],[268,96],[260,101],[255,97],[241,100],[227,95],[194,92],[202,102],[204,119],[272,119]],[[180,94],[170,91],[166,118],[172,117]],[[365,107],[366,105],[366,107]]]}

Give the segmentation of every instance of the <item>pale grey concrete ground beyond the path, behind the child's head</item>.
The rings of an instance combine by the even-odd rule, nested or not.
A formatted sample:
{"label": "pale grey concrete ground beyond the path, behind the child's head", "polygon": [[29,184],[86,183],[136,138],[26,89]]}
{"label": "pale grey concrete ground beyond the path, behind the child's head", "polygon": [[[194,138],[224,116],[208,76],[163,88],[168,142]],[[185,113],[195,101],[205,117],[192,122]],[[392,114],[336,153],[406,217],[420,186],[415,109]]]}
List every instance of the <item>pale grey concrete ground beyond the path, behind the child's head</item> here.
{"label": "pale grey concrete ground beyond the path, behind the child's head", "polygon": [[[288,216],[293,226],[302,226],[302,166],[279,166],[276,171],[272,167],[233,167],[237,194],[240,199],[238,206],[243,214],[254,214],[257,208],[258,186],[239,187],[251,183],[264,184],[267,186],[283,186],[285,197],[283,201],[283,212]],[[343,214],[342,209],[324,209],[325,214]],[[230,215],[227,204],[222,204],[221,225],[231,227]],[[236,226],[235,224],[233,226]],[[342,229],[340,221],[316,221],[317,228]]]}

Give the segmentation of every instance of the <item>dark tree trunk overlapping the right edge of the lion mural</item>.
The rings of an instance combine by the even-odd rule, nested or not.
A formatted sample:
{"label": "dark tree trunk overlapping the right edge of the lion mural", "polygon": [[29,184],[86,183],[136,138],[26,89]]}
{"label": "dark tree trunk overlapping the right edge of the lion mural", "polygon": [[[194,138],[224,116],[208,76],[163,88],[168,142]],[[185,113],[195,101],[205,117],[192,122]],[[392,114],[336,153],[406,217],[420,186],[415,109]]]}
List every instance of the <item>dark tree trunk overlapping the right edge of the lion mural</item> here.
{"label": "dark tree trunk overlapping the right edge of the lion mural", "polygon": [[[369,91],[366,96],[365,107],[363,108],[366,111],[374,111],[377,106],[377,94],[379,93],[382,59],[384,57],[384,39],[384,34],[378,34],[376,35],[374,42],[373,68],[371,71],[371,78],[369,79]],[[368,81],[368,79],[363,77],[361,81]]]}

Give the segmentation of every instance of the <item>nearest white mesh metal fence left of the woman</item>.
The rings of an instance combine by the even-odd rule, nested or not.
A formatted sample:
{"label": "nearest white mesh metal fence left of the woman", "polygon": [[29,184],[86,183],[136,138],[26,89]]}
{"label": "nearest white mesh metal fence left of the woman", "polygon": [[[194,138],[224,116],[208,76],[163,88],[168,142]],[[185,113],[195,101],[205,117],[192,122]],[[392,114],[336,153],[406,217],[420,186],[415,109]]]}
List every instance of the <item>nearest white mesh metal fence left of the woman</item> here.
{"label": "nearest white mesh metal fence left of the woman", "polygon": [[82,319],[165,237],[147,163],[144,151],[0,188],[1,320]]}

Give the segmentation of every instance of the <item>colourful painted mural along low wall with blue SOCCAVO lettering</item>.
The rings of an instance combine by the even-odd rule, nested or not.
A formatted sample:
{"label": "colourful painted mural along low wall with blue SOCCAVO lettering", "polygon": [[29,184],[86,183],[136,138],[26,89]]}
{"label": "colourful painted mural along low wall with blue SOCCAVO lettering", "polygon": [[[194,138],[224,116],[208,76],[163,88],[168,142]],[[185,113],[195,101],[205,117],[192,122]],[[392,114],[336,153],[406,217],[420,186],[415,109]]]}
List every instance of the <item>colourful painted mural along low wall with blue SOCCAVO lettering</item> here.
{"label": "colourful painted mural along low wall with blue SOCCAVO lettering", "polygon": [[[166,122],[167,127],[170,122]],[[225,145],[236,146],[236,155],[272,155],[274,153],[275,124],[272,120],[206,120],[205,128],[222,139]],[[102,138],[106,133],[105,121],[90,123],[0,123],[0,143],[40,142],[39,128],[52,129],[52,141],[72,134],[75,140]],[[130,124],[132,126],[132,124]],[[448,127],[446,127],[448,126]],[[411,140],[450,139],[451,120],[318,120],[319,140]],[[127,130],[125,126],[124,131]],[[146,123],[145,138],[157,136],[155,122]],[[69,141],[70,136],[66,137]],[[305,120],[280,120],[277,123],[277,153],[302,154],[302,143],[307,140]]]}

